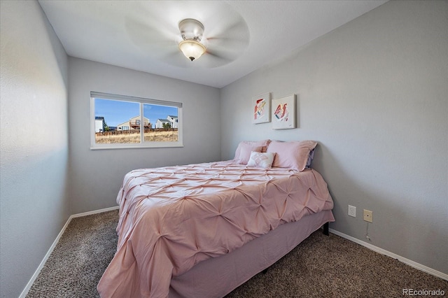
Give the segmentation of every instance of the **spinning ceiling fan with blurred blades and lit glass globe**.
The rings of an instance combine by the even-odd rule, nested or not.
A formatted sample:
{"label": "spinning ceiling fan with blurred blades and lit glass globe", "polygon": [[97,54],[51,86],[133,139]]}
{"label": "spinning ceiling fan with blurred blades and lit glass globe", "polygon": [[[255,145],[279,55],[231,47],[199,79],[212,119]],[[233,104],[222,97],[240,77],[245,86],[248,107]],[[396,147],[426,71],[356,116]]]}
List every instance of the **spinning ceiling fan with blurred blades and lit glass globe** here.
{"label": "spinning ceiling fan with blurred blades and lit glass globe", "polygon": [[250,38],[244,19],[223,1],[194,2],[142,7],[127,19],[127,32],[146,55],[174,66],[214,68],[235,61]]}

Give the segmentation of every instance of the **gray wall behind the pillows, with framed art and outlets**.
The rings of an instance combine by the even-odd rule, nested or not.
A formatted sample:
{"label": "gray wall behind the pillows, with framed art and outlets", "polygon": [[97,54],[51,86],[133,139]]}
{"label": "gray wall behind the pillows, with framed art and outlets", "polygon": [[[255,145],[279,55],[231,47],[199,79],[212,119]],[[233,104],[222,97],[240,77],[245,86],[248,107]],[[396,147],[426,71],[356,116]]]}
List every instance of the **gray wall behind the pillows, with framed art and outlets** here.
{"label": "gray wall behind the pillows, with framed art and outlets", "polygon": [[[391,1],[224,87],[222,158],[241,140],[318,141],[330,227],[448,274],[447,20],[447,1]],[[297,129],[251,124],[264,92],[297,94]]]}

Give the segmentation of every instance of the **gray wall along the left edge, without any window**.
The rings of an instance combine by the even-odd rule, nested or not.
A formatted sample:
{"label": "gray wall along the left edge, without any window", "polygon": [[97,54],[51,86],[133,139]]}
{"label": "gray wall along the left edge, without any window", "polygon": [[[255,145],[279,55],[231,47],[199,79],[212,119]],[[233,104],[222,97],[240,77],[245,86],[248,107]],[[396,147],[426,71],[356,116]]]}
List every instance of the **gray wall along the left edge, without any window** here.
{"label": "gray wall along the left edge, without any window", "polygon": [[18,297],[67,218],[67,57],[37,1],[0,1],[0,297]]}

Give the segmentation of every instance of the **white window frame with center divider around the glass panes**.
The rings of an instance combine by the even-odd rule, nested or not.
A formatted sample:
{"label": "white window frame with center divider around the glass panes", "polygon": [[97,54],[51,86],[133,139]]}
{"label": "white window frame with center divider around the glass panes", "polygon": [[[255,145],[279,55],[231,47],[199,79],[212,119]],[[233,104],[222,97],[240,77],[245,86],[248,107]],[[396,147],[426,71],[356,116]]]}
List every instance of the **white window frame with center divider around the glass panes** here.
{"label": "white window frame with center divider around the glass panes", "polygon": [[[113,143],[97,144],[95,141],[95,98],[116,101],[130,101],[140,104],[140,143]],[[179,119],[178,139],[176,142],[154,142],[144,141],[144,104],[158,106],[172,106],[177,108]],[[154,123],[155,124],[155,123]],[[130,97],[126,95],[109,94],[103,92],[90,92],[90,149],[129,149],[129,148],[171,148],[183,147],[183,125],[182,125],[182,103],[176,101],[165,101],[159,99],[145,99],[142,97]]]}

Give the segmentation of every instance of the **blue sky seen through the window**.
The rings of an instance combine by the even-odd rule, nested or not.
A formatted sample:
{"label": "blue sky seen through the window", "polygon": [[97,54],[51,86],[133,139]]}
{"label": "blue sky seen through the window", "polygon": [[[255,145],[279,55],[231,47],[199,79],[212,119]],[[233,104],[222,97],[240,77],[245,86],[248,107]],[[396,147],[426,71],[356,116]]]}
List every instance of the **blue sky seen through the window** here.
{"label": "blue sky seen through the window", "polygon": [[[177,116],[177,108],[172,106],[158,106],[144,104],[144,117],[151,124],[160,119],[167,119],[168,115]],[[104,117],[109,127],[116,127],[137,115],[140,115],[140,104],[132,101],[117,101],[111,99],[95,99],[95,117]]]}

